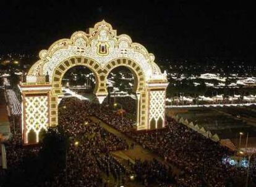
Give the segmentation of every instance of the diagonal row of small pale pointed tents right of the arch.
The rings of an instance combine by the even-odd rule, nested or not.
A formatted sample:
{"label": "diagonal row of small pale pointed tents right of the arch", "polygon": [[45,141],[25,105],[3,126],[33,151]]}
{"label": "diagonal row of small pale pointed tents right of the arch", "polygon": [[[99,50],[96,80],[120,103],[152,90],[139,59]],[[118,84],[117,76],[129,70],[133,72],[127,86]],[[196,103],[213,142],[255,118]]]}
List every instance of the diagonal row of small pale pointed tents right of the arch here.
{"label": "diagonal row of small pale pointed tents right of the arch", "polygon": [[173,117],[177,122],[186,125],[190,129],[195,130],[198,133],[201,133],[203,136],[210,138],[213,141],[220,141],[219,136],[215,133],[212,134],[210,130],[205,130],[205,128],[200,127],[198,124],[194,124],[193,122],[189,122],[187,119],[184,119],[183,117],[179,117],[178,115]]}

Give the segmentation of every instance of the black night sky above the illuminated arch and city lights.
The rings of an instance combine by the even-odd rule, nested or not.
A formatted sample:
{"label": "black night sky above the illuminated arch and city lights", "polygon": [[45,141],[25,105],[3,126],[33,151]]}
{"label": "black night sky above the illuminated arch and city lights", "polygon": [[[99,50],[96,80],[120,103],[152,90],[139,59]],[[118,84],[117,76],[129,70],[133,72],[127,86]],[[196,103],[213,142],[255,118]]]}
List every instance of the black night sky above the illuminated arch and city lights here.
{"label": "black night sky above the illuminated arch and city lights", "polygon": [[0,53],[38,54],[104,18],[117,34],[128,34],[157,58],[255,62],[253,1],[141,2],[1,0]]}

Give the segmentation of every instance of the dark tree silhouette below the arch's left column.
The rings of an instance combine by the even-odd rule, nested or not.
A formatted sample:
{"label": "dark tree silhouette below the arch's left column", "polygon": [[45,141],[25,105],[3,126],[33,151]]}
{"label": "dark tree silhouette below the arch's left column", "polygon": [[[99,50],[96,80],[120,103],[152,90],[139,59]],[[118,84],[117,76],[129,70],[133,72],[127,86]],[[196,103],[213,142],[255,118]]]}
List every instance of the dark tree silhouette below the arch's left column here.
{"label": "dark tree silhouette below the arch's left column", "polygon": [[0,178],[0,186],[40,186],[63,172],[69,138],[61,127],[50,127],[43,135],[39,152],[22,148],[19,165],[10,168]]}

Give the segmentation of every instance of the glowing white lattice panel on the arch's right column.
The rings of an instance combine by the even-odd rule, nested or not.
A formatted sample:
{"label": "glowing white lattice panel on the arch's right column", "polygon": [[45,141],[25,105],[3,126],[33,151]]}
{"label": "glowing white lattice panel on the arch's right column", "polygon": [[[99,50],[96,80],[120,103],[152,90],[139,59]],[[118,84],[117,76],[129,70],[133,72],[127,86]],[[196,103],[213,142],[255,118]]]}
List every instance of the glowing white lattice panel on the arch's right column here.
{"label": "glowing white lattice panel on the arch's right column", "polygon": [[156,124],[158,119],[164,120],[164,109],[165,107],[165,91],[150,91],[150,112],[149,112],[149,122],[151,119],[155,119]]}

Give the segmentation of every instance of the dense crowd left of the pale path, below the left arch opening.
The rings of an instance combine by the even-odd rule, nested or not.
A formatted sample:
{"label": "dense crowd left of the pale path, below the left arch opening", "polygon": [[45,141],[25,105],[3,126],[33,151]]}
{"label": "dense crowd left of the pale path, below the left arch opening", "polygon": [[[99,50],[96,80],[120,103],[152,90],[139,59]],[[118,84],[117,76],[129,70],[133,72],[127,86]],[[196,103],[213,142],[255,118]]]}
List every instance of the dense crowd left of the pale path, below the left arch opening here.
{"label": "dense crowd left of the pale path, below the left arch opening", "polygon": [[108,178],[103,173],[119,181],[125,177],[126,169],[114,161],[110,152],[129,148],[126,140],[103,129],[88,116],[92,116],[92,109],[76,98],[67,98],[59,105],[59,125],[71,140],[67,151],[67,180],[61,181],[64,186],[106,185]]}

